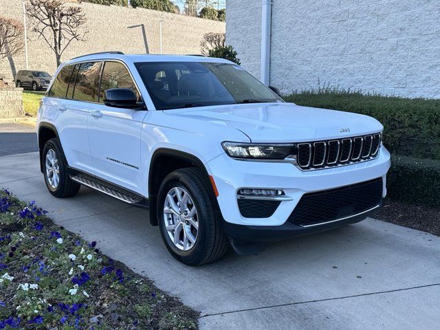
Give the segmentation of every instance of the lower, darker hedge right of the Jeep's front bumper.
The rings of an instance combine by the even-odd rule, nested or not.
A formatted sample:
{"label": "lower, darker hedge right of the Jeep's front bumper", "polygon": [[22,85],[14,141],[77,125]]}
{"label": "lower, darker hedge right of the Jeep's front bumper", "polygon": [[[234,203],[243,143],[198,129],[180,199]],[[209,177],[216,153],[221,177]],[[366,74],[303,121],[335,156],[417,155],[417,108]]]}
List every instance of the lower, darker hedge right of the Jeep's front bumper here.
{"label": "lower, darker hedge right of the Jeep's front bumper", "polygon": [[393,155],[386,186],[390,199],[440,208],[440,161]]}

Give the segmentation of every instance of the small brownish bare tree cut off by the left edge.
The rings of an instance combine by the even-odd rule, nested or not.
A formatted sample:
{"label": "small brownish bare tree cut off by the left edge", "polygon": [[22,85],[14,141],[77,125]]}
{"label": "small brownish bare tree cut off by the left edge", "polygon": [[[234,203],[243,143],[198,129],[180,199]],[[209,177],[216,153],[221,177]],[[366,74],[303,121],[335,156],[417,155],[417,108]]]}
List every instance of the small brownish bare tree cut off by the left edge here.
{"label": "small brownish bare tree cut off by the left edge", "polygon": [[12,56],[23,50],[24,31],[21,22],[0,16],[0,58]]}

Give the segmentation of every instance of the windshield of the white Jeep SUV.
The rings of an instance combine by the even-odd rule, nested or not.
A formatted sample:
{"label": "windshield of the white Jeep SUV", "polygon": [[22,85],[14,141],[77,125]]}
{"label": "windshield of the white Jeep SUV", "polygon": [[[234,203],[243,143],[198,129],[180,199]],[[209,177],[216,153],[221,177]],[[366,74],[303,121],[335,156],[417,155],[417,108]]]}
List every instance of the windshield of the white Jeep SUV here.
{"label": "windshield of the white Jeep SUV", "polygon": [[157,110],[283,102],[238,65],[208,62],[147,62],[135,65]]}

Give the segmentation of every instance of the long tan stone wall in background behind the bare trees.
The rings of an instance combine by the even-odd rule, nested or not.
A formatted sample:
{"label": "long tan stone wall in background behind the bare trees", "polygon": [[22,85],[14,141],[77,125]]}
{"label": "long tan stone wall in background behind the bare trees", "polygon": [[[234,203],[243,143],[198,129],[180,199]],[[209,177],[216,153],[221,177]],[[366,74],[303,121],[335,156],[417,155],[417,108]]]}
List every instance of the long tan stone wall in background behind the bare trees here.
{"label": "long tan stone wall in background behind the bare trees", "polygon": [[[207,32],[225,32],[225,23],[170,14],[144,8],[117,5],[71,3],[80,5],[87,14],[87,42],[73,42],[63,54],[63,61],[87,53],[121,51],[126,54],[160,54],[159,25],[162,21],[163,54],[200,54],[200,42]],[[21,0],[0,0],[0,15],[23,21]],[[28,24],[29,67],[53,74],[55,56],[43,40],[38,40]],[[0,77],[11,79],[14,72],[25,69],[25,54],[0,60]]]}

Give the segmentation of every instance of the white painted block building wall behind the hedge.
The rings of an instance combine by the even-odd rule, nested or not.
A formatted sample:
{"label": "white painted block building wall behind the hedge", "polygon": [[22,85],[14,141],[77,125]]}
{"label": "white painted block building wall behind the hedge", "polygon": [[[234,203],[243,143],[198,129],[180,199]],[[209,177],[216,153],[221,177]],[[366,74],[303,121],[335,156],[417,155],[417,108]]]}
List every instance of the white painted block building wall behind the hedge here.
{"label": "white painted block building wall behind the hedge", "polygon": [[[439,0],[273,0],[271,85],[440,98]],[[259,76],[261,0],[227,1],[227,41]]]}

